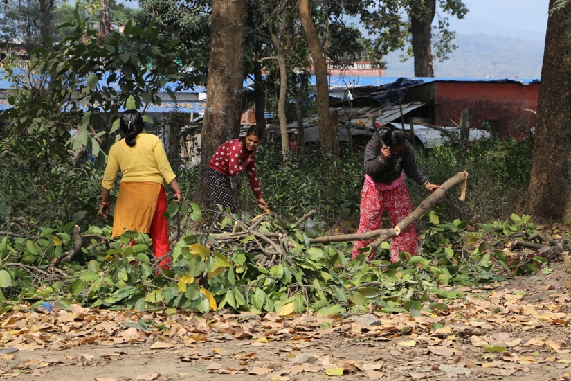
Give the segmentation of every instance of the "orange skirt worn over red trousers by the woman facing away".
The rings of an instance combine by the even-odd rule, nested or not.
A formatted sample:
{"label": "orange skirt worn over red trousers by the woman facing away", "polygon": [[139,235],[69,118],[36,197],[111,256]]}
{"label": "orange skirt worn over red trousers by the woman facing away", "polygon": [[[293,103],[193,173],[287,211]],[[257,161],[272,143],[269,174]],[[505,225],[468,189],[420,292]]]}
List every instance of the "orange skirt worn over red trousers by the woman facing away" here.
{"label": "orange skirt worn over red trousers by the woman facing away", "polygon": [[149,233],[161,186],[150,181],[141,183],[125,181],[120,184],[112,237],[120,236],[129,230]]}

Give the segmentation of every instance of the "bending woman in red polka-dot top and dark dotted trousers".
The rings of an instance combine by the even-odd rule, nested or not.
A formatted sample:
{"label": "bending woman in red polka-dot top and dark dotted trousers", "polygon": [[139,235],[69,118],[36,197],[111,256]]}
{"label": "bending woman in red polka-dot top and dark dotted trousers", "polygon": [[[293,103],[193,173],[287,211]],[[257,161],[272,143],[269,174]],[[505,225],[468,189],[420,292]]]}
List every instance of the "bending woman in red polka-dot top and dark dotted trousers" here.
{"label": "bending woman in red polka-dot top and dark dotted trousers", "polygon": [[253,125],[240,139],[226,141],[212,155],[206,171],[206,184],[212,196],[212,203],[230,208],[232,213],[238,213],[232,197],[230,177],[246,170],[250,186],[257,199],[257,206],[268,206],[257,180],[255,159],[256,149],[262,139],[262,129]]}

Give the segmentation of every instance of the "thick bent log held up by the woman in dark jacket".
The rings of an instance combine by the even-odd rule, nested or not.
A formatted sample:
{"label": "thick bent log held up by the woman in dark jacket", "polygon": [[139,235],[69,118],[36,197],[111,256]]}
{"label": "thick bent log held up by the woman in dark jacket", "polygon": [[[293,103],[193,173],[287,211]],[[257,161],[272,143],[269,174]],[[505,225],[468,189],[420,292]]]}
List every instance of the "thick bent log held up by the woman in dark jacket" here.
{"label": "thick bent log held up by the woman in dark jacket", "polygon": [[396,227],[390,229],[379,229],[368,231],[367,233],[360,234],[342,234],[338,236],[325,236],[309,240],[310,243],[329,243],[329,242],[344,242],[354,240],[369,240],[370,238],[381,238],[381,240],[388,240],[392,237],[398,236],[401,231],[404,231],[413,222],[416,222],[421,215],[429,211],[448,190],[462,184],[468,178],[468,172],[458,172],[454,177],[448,179],[442,184],[442,189],[437,189],[430,196],[426,197],[420,205],[397,224]]}

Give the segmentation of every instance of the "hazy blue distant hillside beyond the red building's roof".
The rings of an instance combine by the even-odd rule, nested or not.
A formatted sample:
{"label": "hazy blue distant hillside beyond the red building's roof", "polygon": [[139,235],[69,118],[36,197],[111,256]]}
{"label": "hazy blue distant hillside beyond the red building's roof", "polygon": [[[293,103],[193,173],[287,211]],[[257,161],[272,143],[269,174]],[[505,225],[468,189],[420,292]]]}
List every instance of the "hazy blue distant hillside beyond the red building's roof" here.
{"label": "hazy blue distant hillside beyond the red building's roof", "polygon": [[[435,62],[435,76],[455,78],[539,78],[544,42],[491,36],[482,33],[457,35],[458,48],[450,59]],[[401,52],[387,56],[385,76],[414,76],[413,59],[400,62]]]}

